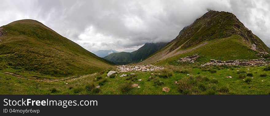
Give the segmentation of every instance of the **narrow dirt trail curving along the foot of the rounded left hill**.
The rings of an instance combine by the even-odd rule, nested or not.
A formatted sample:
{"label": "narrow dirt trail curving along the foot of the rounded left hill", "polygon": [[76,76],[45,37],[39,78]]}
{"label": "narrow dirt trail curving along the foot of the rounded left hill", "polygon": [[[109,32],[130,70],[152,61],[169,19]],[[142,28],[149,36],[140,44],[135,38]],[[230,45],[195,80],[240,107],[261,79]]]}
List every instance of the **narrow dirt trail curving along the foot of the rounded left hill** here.
{"label": "narrow dirt trail curving along the foot of the rounded left hill", "polygon": [[[76,76],[70,76],[70,77],[61,78],[61,79],[36,79],[35,77],[32,77],[32,76],[17,75],[17,74],[14,74],[12,72],[3,72],[2,74],[12,75],[12,76],[15,76],[15,77],[21,78],[21,79],[28,79],[28,80],[34,80],[34,81],[44,81],[44,82],[55,82],[55,81],[61,81],[61,80],[64,80],[64,79],[69,79],[69,78],[72,78],[72,77],[76,77]],[[84,77],[87,77],[87,76],[93,76],[93,75],[96,75],[96,74],[97,73],[90,74],[90,75],[82,75],[82,76],[77,77],[76,79],[84,78]],[[32,79],[26,78],[26,77],[30,77]]]}

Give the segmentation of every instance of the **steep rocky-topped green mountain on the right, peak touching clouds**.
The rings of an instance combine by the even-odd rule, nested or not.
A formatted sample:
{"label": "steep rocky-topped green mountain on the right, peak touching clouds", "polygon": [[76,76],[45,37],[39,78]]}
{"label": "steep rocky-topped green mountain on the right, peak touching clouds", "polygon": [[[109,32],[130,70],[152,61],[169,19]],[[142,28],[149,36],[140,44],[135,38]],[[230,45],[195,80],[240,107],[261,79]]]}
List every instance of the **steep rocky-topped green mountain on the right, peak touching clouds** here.
{"label": "steep rocky-topped green mountain on the right, peak touching clouds", "polygon": [[[220,41],[219,45],[215,44]],[[226,41],[226,44],[222,41]],[[208,48],[205,48],[205,46]],[[237,52],[240,49],[242,52]],[[171,57],[174,57],[171,60],[176,60],[191,52],[204,56],[205,60],[214,59],[211,56],[215,56],[219,60],[234,60],[260,57],[257,55],[259,52],[269,53],[270,49],[251,30],[247,29],[234,14],[211,10],[196,19],[191,25],[184,27],[167,46],[139,64],[152,64],[161,60],[168,60]],[[250,53],[250,56],[247,56],[246,53]],[[223,54],[227,54],[227,56],[223,56]]]}

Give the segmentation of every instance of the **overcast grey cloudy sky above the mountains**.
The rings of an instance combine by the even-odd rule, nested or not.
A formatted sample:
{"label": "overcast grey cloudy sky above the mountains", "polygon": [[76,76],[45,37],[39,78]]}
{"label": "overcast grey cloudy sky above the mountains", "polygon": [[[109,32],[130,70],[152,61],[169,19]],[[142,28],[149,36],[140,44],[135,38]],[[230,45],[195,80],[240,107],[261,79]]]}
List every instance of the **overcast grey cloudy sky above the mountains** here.
{"label": "overcast grey cloudy sky above the mountains", "polygon": [[137,50],[169,42],[207,10],[231,12],[270,47],[269,0],[0,0],[0,26],[33,19],[83,48]]}

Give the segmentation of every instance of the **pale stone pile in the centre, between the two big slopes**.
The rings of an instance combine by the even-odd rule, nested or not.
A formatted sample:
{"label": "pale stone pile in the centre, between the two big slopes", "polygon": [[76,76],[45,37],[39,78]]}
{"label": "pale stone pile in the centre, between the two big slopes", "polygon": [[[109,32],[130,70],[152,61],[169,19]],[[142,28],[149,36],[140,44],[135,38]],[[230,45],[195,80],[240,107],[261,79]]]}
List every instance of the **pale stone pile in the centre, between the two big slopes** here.
{"label": "pale stone pile in the centre, between the two big slopes", "polygon": [[118,72],[133,72],[133,71],[142,71],[142,72],[147,72],[147,71],[154,71],[154,70],[161,70],[164,69],[164,67],[158,67],[158,66],[153,66],[153,65],[136,65],[136,66],[128,66],[128,65],[122,65],[118,66],[116,70]]}

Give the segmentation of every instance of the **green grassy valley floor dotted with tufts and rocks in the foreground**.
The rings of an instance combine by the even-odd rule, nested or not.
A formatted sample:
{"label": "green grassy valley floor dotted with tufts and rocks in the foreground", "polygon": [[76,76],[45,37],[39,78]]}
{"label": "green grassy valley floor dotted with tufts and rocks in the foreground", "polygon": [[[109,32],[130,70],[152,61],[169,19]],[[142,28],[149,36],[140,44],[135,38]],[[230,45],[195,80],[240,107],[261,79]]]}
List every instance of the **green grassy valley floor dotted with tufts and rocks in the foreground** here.
{"label": "green grassy valley floor dotted with tufts and rocks in the foreground", "polygon": [[[56,81],[18,78],[22,75],[0,70],[0,94],[270,94],[269,66],[163,67],[110,77],[107,70]],[[164,87],[169,91],[162,91]]]}

